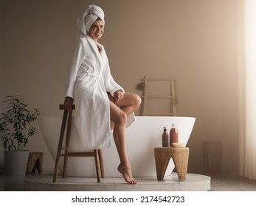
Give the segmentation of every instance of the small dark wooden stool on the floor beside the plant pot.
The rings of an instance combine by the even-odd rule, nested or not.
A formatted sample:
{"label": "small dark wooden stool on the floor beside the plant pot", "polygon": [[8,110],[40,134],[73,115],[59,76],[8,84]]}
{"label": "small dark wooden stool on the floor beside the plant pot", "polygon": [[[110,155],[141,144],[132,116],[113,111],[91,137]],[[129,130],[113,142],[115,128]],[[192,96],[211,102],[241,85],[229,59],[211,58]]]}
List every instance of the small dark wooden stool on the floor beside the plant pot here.
{"label": "small dark wooden stool on the floor beside the plant pot", "polygon": [[27,161],[27,173],[42,172],[43,152],[30,152],[29,160]]}

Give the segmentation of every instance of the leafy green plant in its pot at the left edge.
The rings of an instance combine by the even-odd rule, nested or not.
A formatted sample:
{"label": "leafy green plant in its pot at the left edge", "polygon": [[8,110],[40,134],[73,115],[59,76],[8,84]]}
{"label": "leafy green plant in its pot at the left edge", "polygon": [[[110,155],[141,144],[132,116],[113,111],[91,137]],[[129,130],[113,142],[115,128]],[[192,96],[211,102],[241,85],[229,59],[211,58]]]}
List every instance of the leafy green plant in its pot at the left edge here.
{"label": "leafy green plant in its pot at the left edge", "polygon": [[32,122],[41,113],[35,108],[29,110],[24,98],[19,96],[7,96],[3,104],[6,112],[0,115],[0,138],[4,147],[5,171],[8,175],[24,175],[30,154],[24,146],[35,135]]}

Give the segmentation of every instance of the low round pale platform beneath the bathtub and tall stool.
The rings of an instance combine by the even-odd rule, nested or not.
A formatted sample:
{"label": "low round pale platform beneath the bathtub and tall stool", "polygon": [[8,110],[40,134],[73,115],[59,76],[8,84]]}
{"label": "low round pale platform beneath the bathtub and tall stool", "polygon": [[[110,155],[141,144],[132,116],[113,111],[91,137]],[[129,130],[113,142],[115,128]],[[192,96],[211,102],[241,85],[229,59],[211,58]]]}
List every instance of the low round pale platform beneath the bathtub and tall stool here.
{"label": "low round pale platform beneath the bathtub and tall stool", "polygon": [[136,177],[138,183],[129,185],[122,177],[105,177],[97,182],[96,177],[58,177],[52,182],[52,174],[27,177],[25,191],[210,191],[210,177],[187,174],[186,181],[179,181],[176,172],[156,177]]}

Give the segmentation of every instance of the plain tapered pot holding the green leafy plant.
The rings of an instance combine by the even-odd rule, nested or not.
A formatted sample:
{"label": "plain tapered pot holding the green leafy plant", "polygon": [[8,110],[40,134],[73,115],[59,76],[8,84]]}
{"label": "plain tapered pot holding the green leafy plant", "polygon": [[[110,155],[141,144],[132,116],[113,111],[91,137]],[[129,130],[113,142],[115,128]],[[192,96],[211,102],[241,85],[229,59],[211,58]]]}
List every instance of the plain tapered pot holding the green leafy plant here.
{"label": "plain tapered pot holding the green leafy plant", "polygon": [[4,151],[5,174],[25,175],[30,151]]}

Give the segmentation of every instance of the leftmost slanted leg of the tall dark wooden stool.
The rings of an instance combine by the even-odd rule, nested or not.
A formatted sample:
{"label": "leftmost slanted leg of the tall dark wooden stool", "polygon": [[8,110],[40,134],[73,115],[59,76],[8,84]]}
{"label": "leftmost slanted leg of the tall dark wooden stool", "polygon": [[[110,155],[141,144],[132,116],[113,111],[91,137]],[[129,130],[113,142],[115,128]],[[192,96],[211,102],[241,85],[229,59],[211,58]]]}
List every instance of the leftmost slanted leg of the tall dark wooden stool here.
{"label": "leftmost slanted leg of the tall dark wooden stool", "polygon": [[65,132],[65,127],[66,127],[67,115],[68,115],[68,112],[64,111],[63,120],[62,120],[62,124],[61,124],[61,129],[60,129],[60,140],[59,140],[59,144],[58,144],[58,151],[57,151],[56,160],[55,160],[55,171],[54,171],[54,174],[53,174],[53,181],[52,182],[56,182],[56,178],[57,178],[57,175],[58,175],[58,168],[59,168],[59,163],[60,163],[60,153],[61,153],[62,144],[63,144],[63,138],[64,138],[64,132]]}

